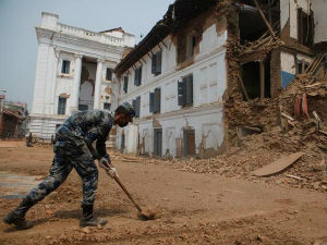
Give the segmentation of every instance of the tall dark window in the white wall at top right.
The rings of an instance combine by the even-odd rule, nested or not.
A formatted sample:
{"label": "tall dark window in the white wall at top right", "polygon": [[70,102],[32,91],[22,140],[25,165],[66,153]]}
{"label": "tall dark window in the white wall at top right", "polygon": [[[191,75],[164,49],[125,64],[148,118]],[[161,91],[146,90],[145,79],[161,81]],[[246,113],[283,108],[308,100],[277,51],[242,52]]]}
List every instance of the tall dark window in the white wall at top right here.
{"label": "tall dark window in the white wall at top right", "polygon": [[300,44],[312,47],[314,37],[314,20],[313,12],[310,15],[298,10],[298,40]]}

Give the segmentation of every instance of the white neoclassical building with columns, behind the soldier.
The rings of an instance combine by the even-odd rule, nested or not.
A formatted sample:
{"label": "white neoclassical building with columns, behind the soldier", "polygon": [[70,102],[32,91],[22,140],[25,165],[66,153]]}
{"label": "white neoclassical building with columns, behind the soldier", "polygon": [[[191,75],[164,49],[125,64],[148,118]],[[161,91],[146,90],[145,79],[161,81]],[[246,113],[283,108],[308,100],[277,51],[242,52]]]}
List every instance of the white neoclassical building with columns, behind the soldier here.
{"label": "white neoclassical building with columns, behind the soldier", "polygon": [[108,109],[114,98],[112,70],[135,37],[122,28],[95,33],[41,14],[36,27],[38,53],[29,131],[50,138],[56,127],[78,110]]}

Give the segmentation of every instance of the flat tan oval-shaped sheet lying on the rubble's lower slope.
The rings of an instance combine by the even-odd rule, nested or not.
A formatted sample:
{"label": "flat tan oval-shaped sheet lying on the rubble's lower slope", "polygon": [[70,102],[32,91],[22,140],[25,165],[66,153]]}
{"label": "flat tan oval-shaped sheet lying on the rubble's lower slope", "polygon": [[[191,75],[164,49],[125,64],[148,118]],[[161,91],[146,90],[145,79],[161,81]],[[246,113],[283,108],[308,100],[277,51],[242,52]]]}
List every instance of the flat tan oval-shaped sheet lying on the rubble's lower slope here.
{"label": "flat tan oval-shaped sheet lying on the rubble's lower slope", "polygon": [[256,176],[266,176],[266,175],[271,175],[274,173],[278,173],[278,172],[282,171],[283,169],[288,168],[289,166],[291,166],[301,156],[303,156],[303,152],[291,154],[287,157],[282,157],[282,158],[278,159],[277,161],[274,161],[272,163],[270,163],[268,166],[257,169],[257,170],[253,171],[252,173]]}

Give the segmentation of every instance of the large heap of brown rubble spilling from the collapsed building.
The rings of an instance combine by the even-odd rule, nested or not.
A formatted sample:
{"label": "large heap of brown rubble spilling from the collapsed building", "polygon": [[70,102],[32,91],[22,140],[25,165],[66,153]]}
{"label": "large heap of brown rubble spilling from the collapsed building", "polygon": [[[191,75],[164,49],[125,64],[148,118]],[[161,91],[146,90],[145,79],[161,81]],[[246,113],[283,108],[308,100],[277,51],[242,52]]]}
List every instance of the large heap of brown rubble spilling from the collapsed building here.
{"label": "large heap of brown rubble spilling from the collapsed building", "polygon": [[[302,74],[275,99],[227,100],[228,134],[234,138],[227,150],[209,159],[174,159],[147,163],[169,164],[181,171],[245,177],[327,192],[327,83],[326,74]],[[231,98],[231,97],[230,97]],[[299,107],[300,101],[300,109]],[[244,125],[246,123],[246,125]],[[241,135],[238,128],[259,128]],[[304,155],[284,171],[257,177],[252,171],[294,152]]]}

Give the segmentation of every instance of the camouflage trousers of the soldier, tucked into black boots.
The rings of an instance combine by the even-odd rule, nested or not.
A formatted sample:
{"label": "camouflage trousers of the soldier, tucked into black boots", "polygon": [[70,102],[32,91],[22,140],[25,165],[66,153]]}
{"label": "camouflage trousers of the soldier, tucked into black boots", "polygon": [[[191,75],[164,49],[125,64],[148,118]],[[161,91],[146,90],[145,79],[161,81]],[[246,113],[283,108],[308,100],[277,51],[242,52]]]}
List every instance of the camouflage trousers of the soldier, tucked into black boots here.
{"label": "camouflage trousers of the soldier, tucked into black boots", "polygon": [[82,205],[93,205],[98,183],[98,169],[93,157],[81,147],[69,142],[57,142],[55,145],[55,157],[49,175],[44,179],[31,193],[27,199],[36,204],[51,192],[57,189],[75,169],[83,183]]}

